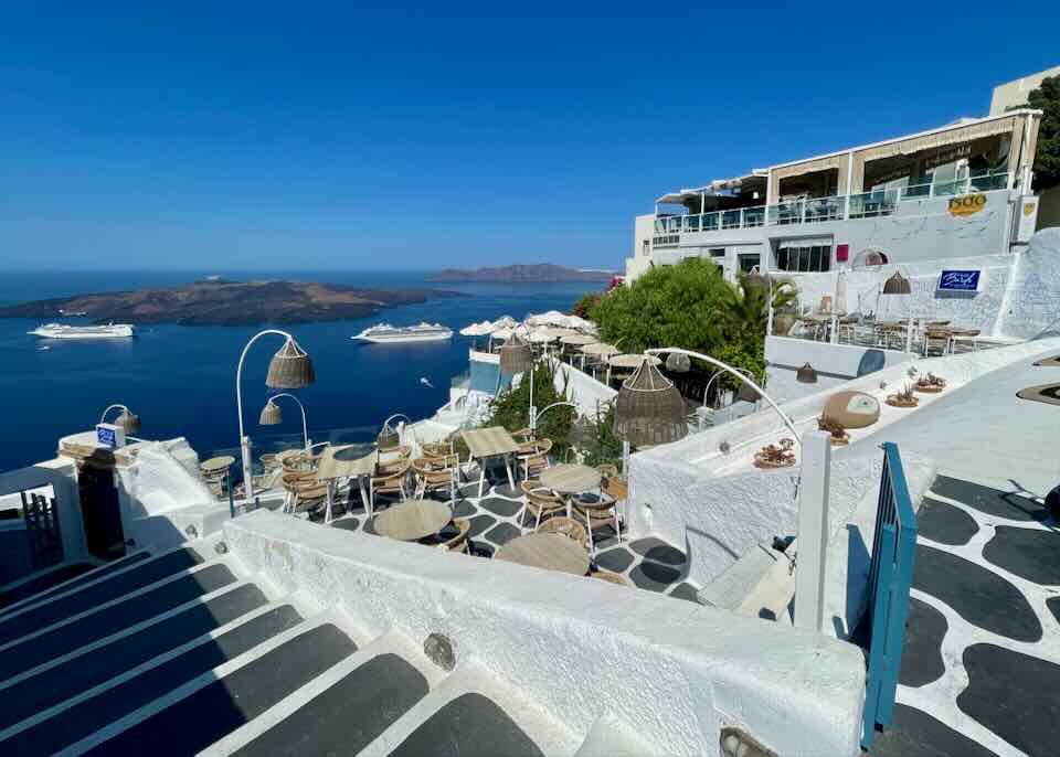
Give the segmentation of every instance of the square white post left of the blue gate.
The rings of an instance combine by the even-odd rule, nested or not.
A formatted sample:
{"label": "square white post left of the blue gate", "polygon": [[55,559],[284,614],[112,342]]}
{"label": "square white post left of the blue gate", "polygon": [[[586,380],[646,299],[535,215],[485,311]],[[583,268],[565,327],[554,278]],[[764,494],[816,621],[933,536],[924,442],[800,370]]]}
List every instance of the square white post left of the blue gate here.
{"label": "square white post left of the blue gate", "polygon": [[825,622],[825,569],[828,554],[828,486],[831,440],[827,431],[803,436],[798,483],[795,562],[795,626],[818,633]]}

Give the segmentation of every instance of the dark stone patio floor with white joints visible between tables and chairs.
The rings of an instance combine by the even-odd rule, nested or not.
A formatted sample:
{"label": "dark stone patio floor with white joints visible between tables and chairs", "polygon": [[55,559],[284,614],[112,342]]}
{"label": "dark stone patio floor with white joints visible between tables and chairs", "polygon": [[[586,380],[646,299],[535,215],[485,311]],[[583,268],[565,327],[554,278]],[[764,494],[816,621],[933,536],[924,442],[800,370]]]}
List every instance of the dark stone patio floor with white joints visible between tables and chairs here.
{"label": "dark stone patio floor with white joints visible between tables and chairs", "polygon": [[[434,499],[445,500],[444,495],[436,495]],[[365,518],[360,495],[354,493],[352,501],[352,509],[336,518],[331,526],[374,533],[371,522]],[[377,511],[394,501],[396,500],[377,501]],[[492,557],[498,547],[533,531],[533,520],[529,516],[527,525],[519,524],[522,507],[522,493],[518,489],[512,489],[507,479],[488,479],[483,497],[478,497],[478,479],[475,478],[474,481],[466,481],[460,487],[460,495],[456,500],[453,513],[456,518],[470,521],[468,537],[471,542],[471,554]],[[596,540],[594,571],[597,568],[611,571],[622,575],[630,586],[696,601],[697,587],[685,580],[688,574],[686,555],[672,544],[654,536],[630,542],[625,532],[619,543],[610,527],[595,531],[594,539]]]}

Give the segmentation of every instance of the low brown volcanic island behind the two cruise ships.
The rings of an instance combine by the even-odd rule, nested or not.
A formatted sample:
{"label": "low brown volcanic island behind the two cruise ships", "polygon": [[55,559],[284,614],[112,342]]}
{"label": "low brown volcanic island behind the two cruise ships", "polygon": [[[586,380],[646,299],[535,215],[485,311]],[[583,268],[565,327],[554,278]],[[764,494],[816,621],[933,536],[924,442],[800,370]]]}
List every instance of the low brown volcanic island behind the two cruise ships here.
{"label": "low brown volcanic island behind the two cruise ships", "polygon": [[436,297],[460,297],[441,289],[364,289],[307,281],[211,279],[182,287],[76,295],[0,307],[0,318],[54,319],[84,314],[97,323],[254,326],[311,323],[363,318],[383,308]]}

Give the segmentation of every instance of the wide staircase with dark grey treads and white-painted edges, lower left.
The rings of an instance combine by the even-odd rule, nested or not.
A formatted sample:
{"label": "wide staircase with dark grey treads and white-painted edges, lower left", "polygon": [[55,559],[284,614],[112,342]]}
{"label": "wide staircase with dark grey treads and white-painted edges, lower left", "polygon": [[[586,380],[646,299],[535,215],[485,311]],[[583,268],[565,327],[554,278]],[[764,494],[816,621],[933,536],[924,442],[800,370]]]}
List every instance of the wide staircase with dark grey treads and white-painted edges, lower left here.
{"label": "wide staircase with dark grey treads and white-painted edges, lower left", "polygon": [[364,638],[215,547],[135,553],[0,608],[0,754],[577,750],[473,661],[447,672],[422,639]]}

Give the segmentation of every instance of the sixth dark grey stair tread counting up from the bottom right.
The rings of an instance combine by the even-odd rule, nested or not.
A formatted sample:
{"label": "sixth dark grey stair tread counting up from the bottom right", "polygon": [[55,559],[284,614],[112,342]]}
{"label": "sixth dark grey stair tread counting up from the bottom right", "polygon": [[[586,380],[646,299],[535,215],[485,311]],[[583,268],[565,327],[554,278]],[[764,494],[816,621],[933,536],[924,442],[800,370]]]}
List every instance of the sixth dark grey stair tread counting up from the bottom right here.
{"label": "sixth dark grey stair tread counting up from the bottom right", "polygon": [[0,647],[0,681],[68,654],[136,623],[234,584],[223,563],[210,563],[187,575],[149,585],[132,596],[97,607],[82,616],[63,619],[32,635]]}

